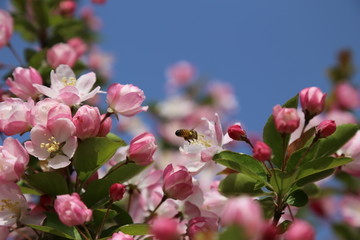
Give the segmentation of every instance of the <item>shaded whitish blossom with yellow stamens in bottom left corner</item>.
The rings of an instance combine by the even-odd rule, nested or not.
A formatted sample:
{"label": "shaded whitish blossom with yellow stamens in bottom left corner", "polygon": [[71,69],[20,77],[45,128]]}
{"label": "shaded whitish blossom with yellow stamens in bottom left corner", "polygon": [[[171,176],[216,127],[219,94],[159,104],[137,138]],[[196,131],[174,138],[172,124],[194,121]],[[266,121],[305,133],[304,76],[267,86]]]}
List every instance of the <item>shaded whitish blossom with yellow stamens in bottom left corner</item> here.
{"label": "shaded whitish blossom with yellow stamens in bottom left corner", "polygon": [[19,186],[13,182],[0,184],[0,226],[12,226],[21,221],[27,202]]}

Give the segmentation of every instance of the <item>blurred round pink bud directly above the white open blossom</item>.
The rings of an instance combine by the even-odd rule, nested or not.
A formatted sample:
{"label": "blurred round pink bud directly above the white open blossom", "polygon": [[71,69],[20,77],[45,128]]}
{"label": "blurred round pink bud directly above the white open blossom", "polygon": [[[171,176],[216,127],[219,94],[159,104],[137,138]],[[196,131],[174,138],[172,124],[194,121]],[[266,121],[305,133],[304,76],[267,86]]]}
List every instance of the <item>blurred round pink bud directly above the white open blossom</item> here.
{"label": "blurred round pink bud directly above the white open blossom", "polygon": [[60,64],[72,67],[77,60],[77,54],[69,44],[58,43],[47,51],[46,58],[52,68],[57,68]]}

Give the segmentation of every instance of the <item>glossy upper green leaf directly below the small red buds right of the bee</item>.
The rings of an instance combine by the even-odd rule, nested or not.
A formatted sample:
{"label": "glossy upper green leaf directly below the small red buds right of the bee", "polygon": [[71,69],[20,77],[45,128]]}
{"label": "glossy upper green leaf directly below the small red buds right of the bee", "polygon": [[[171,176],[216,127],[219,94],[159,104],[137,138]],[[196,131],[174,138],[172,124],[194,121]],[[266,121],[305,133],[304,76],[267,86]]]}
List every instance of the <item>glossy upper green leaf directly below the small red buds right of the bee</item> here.
{"label": "glossy upper green leaf directly below the small red buds right of the bee", "polygon": [[264,166],[252,156],[231,151],[223,151],[216,154],[213,159],[217,163],[246,174],[261,183],[270,186],[267,182]]}

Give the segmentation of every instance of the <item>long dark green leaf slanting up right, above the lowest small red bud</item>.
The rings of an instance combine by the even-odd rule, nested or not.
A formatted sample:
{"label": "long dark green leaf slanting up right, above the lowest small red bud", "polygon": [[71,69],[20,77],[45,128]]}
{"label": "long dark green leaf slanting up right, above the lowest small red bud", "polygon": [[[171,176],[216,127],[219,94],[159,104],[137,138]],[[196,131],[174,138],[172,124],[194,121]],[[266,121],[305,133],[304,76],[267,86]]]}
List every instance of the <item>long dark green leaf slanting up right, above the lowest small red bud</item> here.
{"label": "long dark green leaf slanting up right, above the lowest small red bud", "polygon": [[114,183],[121,183],[134,177],[146,166],[138,166],[135,163],[128,163],[119,167],[102,179],[92,181],[82,195],[82,200],[89,207],[109,195],[109,188]]}

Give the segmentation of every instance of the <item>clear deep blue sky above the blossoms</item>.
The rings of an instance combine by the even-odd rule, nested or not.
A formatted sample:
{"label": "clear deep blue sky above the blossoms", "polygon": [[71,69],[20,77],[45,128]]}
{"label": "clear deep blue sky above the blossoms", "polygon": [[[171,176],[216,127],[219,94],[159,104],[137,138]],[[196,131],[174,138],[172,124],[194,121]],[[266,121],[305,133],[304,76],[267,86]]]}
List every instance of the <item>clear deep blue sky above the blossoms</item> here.
{"label": "clear deep blue sky above the blossoms", "polygon": [[[339,49],[352,49],[360,63],[357,0],[108,0],[94,7],[103,19],[101,47],[115,57],[114,82],[160,99],[166,67],[188,60],[234,86],[234,121],[249,130],[260,131],[274,105],[305,87],[328,91],[326,69]],[[1,62],[12,59],[0,49]]]}

